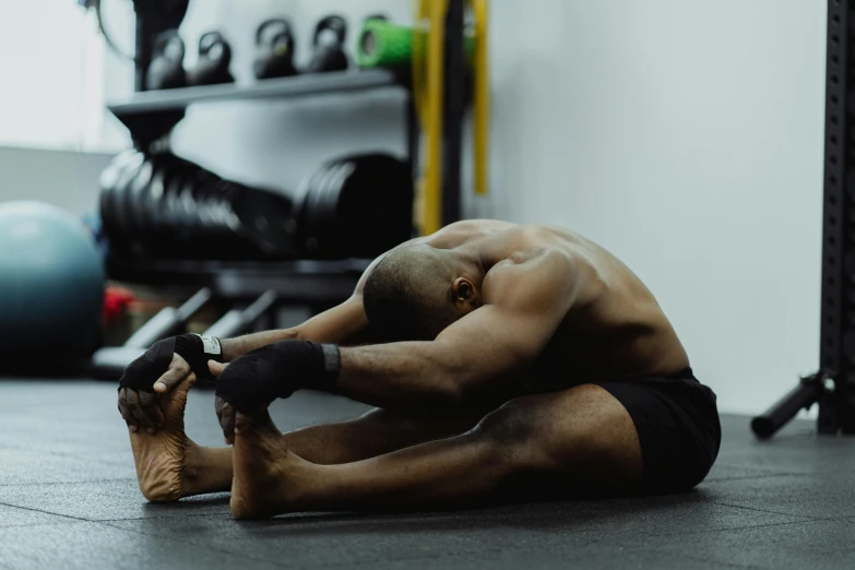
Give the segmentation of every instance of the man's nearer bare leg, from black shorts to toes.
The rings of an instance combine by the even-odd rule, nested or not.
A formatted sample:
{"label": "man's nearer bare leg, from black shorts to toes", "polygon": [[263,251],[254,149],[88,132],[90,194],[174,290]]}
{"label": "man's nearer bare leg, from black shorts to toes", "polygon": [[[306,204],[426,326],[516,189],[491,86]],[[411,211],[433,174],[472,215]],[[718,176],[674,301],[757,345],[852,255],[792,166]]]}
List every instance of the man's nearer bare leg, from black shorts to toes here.
{"label": "man's nearer bare leg, from black shorts to toes", "polygon": [[235,428],[231,512],[239,519],[453,507],[544,490],[620,494],[642,475],[629,413],[592,384],[521,397],[463,435],[343,465],[298,456],[266,411],[238,415]]}

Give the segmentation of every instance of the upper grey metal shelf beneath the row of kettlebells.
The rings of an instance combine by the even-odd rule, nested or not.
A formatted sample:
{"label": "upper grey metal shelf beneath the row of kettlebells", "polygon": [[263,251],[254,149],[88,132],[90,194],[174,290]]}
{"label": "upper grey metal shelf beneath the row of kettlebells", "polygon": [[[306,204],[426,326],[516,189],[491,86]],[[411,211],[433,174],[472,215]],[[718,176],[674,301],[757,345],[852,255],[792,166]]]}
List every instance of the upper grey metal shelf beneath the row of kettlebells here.
{"label": "upper grey metal shelf beneath the row of kettlebells", "polygon": [[311,73],[262,80],[251,84],[226,83],[177,90],[142,91],[107,107],[131,130],[134,139],[151,142],[166,134],[185,116],[188,106],[203,103],[282,99],[380,88],[406,88],[402,75],[385,69]]}

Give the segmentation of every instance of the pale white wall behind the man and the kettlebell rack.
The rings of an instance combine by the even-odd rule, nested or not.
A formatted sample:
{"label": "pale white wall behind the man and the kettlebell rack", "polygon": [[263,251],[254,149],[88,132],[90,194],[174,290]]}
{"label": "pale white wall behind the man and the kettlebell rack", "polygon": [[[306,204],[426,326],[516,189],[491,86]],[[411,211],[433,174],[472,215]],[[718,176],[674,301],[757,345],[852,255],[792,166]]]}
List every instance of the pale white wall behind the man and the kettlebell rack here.
{"label": "pale white wall behind the man and the kettlebell rack", "polygon": [[[204,5],[202,5],[204,4]],[[193,2],[251,81],[254,26],[356,25],[403,0]],[[724,411],[757,412],[818,360],[824,2],[492,0],[492,194],[467,213],[574,228],[656,293]],[[192,64],[194,47],[189,49]],[[130,87],[130,80],[127,82]],[[282,188],[357,149],[403,152],[401,96],[191,109],[179,153]]]}

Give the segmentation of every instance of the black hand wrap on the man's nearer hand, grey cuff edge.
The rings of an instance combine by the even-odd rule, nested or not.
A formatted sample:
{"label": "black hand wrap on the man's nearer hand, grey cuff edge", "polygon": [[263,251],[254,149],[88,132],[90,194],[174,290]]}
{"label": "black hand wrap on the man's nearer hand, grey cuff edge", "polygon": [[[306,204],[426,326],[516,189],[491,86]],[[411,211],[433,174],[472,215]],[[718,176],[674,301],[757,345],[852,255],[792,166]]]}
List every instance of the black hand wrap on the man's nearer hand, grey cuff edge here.
{"label": "black hand wrap on the man's nearer hand, grey cuff edge", "polygon": [[339,347],[309,341],[281,341],[247,353],[217,379],[216,394],[240,412],[310,388],[335,392]]}

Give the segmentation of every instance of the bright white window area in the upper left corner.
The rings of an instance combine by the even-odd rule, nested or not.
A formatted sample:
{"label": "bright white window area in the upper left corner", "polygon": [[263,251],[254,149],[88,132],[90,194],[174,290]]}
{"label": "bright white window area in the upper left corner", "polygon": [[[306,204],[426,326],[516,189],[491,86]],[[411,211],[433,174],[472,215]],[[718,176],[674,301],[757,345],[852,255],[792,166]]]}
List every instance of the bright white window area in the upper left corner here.
{"label": "bright white window area in the upper left corner", "polygon": [[0,144],[110,147],[104,129],[105,48],[93,14],[74,0],[0,5]]}

